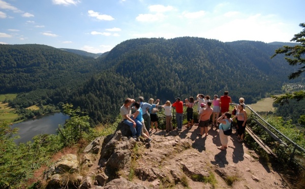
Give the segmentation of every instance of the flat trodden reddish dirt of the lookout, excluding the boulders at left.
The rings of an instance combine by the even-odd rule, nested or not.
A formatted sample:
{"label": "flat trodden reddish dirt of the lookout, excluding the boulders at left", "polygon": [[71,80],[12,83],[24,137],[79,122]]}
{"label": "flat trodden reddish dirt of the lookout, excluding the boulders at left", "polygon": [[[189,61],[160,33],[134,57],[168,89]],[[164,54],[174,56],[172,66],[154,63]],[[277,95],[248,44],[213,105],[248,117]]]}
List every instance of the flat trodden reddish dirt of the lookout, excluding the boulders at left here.
{"label": "flat trodden reddish dirt of the lookout, excluding the boulders at left", "polygon": [[[198,136],[199,128],[193,126],[187,129],[184,125],[181,132],[176,130],[153,131],[153,142],[150,147],[141,148],[143,157],[138,160],[138,166],[142,168],[158,169],[169,180],[172,170],[181,170],[185,165],[200,168],[211,172],[217,179],[216,185],[193,181],[187,177],[189,188],[228,188],[228,183],[233,182],[232,188],[289,188],[280,174],[273,171],[268,163],[259,162],[258,155],[249,150],[245,143],[234,139],[235,134],[229,137],[228,149],[219,150],[220,139],[218,131],[209,127],[208,136]],[[180,140],[189,141],[189,149],[176,149],[174,143]],[[175,150],[172,150],[175,148]],[[225,181],[227,179],[227,182]],[[148,181],[135,178],[133,182],[141,183],[147,187],[166,188],[159,179]],[[168,185],[171,186],[171,185]],[[176,184],[173,188],[184,188]]]}

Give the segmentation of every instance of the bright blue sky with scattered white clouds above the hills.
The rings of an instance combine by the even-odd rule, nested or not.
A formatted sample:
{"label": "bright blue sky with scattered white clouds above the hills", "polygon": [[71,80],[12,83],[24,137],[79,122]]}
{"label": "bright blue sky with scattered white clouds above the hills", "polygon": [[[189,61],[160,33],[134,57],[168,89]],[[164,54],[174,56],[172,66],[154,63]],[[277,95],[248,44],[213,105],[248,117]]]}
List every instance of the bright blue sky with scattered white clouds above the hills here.
{"label": "bright blue sky with scattered white clouds above the hills", "polygon": [[100,53],[135,38],[289,42],[304,0],[0,0],[0,44]]}

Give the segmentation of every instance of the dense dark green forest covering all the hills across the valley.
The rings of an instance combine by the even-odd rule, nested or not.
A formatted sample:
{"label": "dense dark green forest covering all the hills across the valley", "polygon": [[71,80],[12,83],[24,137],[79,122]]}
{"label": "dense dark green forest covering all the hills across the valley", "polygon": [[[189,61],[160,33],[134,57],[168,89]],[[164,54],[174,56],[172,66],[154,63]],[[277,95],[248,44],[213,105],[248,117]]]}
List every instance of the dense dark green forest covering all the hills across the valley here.
{"label": "dense dark green forest covering all the hills across the valley", "polygon": [[250,104],[281,93],[288,82],[293,68],[282,56],[270,59],[280,46],[143,38],[93,58],[45,45],[0,45],[0,93],[18,93],[9,102],[15,108],[73,103],[92,123],[113,121],[126,97],[164,103],[198,93],[220,96],[229,90],[234,102],[243,97]]}

